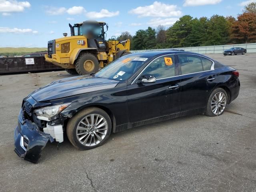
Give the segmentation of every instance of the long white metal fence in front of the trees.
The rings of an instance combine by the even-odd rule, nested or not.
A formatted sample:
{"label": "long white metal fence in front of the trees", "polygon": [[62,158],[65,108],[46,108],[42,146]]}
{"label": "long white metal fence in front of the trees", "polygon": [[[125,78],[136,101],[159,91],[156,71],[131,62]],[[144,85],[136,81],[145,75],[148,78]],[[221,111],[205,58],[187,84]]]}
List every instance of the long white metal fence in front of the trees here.
{"label": "long white metal fence in front of the trees", "polygon": [[234,45],[216,45],[216,46],[202,46],[202,47],[181,47],[181,48],[169,48],[169,49],[150,49],[150,50],[132,50],[131,52],[145,52],[145,51],[160,51],[160,50],[172,50],[182,49],[184,51],[196,52],[200,54],[222,54],[224,50],[232,47],[242,47],[247,50],[247,53],[256,53],[256,43],[247,44],[234,44]]}

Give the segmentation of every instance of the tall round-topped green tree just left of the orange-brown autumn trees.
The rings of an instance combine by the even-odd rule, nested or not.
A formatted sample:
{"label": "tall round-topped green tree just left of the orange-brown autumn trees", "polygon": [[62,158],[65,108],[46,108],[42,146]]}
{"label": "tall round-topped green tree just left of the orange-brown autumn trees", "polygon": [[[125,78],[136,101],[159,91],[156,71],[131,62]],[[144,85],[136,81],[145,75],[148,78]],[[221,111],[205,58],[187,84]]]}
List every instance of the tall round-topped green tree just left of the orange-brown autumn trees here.
{"label": "tall round-topped green tree just left of the orange-brown autumn trees", "polygon": [[228,42],[228,22],[224,16],[214,15],[208,21],[208,39],[205,45],[223,45]]}

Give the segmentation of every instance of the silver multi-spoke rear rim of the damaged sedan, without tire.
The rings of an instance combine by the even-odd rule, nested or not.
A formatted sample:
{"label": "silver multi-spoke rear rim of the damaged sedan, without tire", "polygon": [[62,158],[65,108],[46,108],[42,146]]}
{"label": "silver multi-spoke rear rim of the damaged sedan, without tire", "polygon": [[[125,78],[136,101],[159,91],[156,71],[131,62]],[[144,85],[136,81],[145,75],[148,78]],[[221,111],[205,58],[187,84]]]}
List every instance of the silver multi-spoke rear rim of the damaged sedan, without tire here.
{"label": "silver multi-spoke rear rim of the damaged sedan, without tire", "polygon": [[217,92],[211,102],[211,109],[215,115],[220,115],[226,108],[227,98],[223,92]]}

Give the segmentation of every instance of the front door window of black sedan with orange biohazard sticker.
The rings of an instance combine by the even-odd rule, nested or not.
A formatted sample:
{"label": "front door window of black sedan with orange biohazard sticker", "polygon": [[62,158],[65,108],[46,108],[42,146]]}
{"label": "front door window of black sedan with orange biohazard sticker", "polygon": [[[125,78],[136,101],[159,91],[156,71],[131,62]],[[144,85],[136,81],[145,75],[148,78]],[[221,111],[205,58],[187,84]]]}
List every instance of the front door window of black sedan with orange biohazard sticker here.
{"label": "front door window of black sedan with orange biohazard sticker", "polygon": [[150,74],[156,77],[156,80],[175,76],[174,56],[163,56],[155,59],[142,72],[142,75]]}

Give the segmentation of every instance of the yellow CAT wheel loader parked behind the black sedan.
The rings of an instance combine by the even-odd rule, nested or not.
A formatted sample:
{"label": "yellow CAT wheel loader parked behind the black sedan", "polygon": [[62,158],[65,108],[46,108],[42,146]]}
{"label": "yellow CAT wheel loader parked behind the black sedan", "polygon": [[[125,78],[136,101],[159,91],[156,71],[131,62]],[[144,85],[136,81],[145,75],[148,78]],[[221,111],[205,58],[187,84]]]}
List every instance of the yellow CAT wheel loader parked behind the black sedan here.
{"label": "yellow CAT wheel loader parked behind the black sedan", "polygon": [[70,26],[71,36],[48,41],[47,62],[51,62],[70,74],[93,74],[113,60],[130,54],[130,40],[118,42],[115,36],[106,40],[108,24],[85,21]]}

